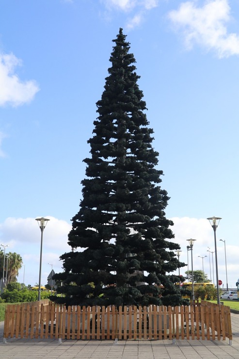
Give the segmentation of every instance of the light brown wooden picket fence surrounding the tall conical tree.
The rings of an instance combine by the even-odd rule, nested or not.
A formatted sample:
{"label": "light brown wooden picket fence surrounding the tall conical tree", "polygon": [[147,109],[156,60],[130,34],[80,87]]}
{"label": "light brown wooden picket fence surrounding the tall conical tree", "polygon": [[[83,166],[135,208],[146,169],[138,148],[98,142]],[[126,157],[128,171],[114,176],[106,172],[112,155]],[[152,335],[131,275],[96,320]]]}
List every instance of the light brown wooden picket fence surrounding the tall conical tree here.
{"label": "light brown wooden picket fence surrounding the tall conical tree", "polygon": [[230,307],[207,301],[190,306],[80,307],[40,301],[8,305],[7,338],[76,340],[196,339],[232,341]]}

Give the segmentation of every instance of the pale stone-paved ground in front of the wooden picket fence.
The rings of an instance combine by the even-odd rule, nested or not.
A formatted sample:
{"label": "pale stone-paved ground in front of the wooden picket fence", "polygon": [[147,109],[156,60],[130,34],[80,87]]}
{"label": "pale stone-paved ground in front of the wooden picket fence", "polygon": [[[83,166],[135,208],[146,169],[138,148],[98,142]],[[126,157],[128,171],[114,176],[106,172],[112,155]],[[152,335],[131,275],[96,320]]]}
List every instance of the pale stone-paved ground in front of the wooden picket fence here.
{"label": "pale stone-paved ground in front of the wooden picket fence", "polygon": [[0,322],[0,358],[239,359],[239,314],[231,313],[233,345],[226,341],[77,341],[7,339]]}

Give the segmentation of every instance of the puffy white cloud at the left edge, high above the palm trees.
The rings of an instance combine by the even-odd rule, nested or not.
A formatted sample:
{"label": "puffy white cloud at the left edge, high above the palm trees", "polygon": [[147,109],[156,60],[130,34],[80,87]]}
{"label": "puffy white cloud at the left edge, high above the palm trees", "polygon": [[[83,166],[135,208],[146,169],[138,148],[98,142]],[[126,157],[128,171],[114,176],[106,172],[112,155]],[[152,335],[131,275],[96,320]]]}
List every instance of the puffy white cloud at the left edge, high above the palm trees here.
{"label": "puffy white cloud at the left edge, high above the palm trees", "polygon": [[15,73],[21,61],[13,54],[0,54],[0,106],[19,106],[32,101],[39,87],[33,80],[21,81]]}

